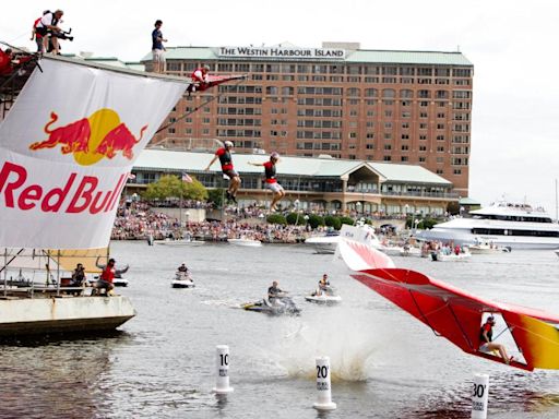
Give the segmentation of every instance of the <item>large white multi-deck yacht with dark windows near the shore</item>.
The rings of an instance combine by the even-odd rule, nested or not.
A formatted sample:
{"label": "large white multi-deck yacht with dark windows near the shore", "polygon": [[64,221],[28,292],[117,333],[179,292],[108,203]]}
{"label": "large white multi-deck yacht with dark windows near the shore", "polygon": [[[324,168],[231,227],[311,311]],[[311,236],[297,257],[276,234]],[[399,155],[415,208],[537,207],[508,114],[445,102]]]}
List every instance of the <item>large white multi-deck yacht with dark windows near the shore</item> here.
{"label": "large white multi-deck yacht with dark windows near the shore", "polygon": [[511,249],[559,249],[559,224],[542,207],[501,201],[469,215],[437,224],[417,238],[452,240],[456,244],[492,242]]}

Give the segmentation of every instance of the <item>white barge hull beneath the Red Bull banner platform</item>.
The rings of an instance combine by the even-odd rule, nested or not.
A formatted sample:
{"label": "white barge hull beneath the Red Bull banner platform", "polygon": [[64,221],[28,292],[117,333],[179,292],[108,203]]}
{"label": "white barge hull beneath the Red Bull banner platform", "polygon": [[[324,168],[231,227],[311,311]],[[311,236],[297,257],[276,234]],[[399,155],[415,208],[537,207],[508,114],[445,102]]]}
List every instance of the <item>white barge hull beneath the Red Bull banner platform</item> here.
{"label": "white barge hull beneath the Red Bull banner platform", "polygon": [[111,331],[135,315],[127,297],[0,300],[0,336]]}

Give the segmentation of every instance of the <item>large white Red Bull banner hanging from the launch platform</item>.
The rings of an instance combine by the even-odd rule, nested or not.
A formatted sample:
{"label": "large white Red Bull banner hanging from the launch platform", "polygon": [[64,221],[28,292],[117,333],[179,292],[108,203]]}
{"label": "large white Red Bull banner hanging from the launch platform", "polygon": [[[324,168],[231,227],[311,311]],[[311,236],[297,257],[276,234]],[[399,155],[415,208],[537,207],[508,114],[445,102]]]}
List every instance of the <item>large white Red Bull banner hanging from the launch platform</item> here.
{"label": "large white Red Bull banner hanging from the launch platform", "polygon": [[0,124],[0,247],[108,244],[128,175],[187,84],[45,58]]}

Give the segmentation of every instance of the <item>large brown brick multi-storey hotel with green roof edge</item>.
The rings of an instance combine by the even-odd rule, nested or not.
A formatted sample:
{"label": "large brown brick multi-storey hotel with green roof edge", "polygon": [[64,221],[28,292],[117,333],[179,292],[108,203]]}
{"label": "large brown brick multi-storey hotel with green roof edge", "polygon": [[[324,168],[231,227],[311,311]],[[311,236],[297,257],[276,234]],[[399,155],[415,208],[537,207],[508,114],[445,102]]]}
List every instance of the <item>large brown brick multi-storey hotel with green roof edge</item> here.
{"label": "large brown brick multi-storey hotel with green roof edge", "polygon": [[[468,194],[474,68],[461,52],[323,43],[176,47],[166,59],[167,74],[190,76],[205,64],[247,80],[185,95],[152,145],[188,149],[192,139],[218,139],[238,153],[417,165],[450,181],[456,196]],[[150,70],[151,55],[142,62]]]}

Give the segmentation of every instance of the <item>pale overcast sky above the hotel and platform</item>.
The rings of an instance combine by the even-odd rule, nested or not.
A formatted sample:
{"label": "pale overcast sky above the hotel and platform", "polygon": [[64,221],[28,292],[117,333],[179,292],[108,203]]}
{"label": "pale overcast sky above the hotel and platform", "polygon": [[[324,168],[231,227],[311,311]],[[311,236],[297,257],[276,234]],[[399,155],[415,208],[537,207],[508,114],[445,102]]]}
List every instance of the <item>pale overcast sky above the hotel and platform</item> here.
{"label": "pale overcast sky above the hotel and platform", "polygon": [[[2,3],[0,40],[33,47],[45,1]],[[556,0],[55,1],[64,52],[139,60],[156,19],[168,46],[356,41],[365,49],[455,51],[474,63],[469,196],[503,194],[556,214],[559,178],[559,2]]]}

